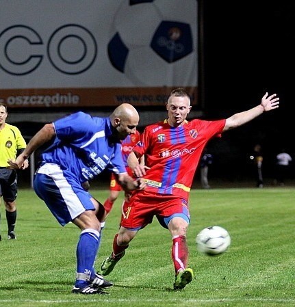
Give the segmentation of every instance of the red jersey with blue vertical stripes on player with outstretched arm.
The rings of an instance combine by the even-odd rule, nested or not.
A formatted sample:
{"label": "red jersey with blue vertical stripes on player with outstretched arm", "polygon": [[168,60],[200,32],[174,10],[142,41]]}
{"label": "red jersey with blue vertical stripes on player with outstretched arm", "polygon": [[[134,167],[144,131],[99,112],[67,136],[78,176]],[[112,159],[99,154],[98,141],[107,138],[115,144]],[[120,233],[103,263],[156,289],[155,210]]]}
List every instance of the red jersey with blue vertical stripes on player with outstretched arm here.
{"label": "red jersey with blue vertical stripes on player with outstretched arm", "polygon": [[146,126],[133,148],[151,168],[144,176],[146,191],[173,194],[188,200],[194,173],[209,139],[222,133],[225,119],[185,120],[172,127],[167,120]]}

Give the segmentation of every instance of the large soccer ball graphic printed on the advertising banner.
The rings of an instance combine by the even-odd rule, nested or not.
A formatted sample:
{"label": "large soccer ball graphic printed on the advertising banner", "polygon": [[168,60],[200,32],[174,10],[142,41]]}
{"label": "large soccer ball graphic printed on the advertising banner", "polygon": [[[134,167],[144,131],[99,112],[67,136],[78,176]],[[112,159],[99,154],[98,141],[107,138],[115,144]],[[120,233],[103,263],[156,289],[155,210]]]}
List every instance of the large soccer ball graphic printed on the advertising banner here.
{"label": "large soccer ball graphic printed on the advertising banner", "polygon": [[196,0],[184,2],[123,0],[118,6],[107,54],[133,85],[196,85]]}

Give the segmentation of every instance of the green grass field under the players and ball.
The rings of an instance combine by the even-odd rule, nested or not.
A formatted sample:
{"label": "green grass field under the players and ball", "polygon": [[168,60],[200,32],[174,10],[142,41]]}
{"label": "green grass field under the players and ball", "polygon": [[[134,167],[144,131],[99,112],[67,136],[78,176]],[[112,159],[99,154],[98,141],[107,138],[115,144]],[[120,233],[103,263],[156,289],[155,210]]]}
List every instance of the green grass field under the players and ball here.
{"label": "green grass field under the players and ball", "polygon": [[[103,201],[106,190],[92,190]],[[103,230],[97,269],[112,250],[120,202]],[[194,189],[190,198],[189,266],[196,278],[173,291],[168,230],[157,223],[140,231],[107,276],[110,295],[70,293],[75,280],[79,230],[62,228],[31,189],[18,191],[17,239],[6,239],[1,206],[0,306],[295,306],[295,188]],[[231,246],[220,256],[196,250],[196,234],[220,225]]]}

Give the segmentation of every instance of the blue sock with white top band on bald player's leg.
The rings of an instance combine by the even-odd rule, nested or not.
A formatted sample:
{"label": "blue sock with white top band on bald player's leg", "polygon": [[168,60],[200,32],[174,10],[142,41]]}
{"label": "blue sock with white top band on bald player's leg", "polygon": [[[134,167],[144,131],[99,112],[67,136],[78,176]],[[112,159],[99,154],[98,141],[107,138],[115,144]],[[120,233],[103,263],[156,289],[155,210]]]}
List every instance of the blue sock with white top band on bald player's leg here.
{"label": "blue sock with white top band on bald player's leg", "polygon": [[76,251],[77,280],[75,286],[89,284],[90,275],[99,249],[99,237],[99,232],[94,229],[88,228],[81,232]]}

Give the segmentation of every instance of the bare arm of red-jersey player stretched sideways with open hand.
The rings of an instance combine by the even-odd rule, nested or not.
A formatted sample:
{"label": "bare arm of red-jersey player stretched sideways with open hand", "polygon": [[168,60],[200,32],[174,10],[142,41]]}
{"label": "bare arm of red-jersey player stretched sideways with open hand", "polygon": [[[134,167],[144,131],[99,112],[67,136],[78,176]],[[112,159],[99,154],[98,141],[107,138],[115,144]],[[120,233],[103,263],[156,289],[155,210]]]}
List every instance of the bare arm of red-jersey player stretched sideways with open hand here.
{"label": "bare arm of red-jersey player stretched sideways with open hand", "polygon": [[264,112],[271,111],[273,109],[277,109],[279,107],[279,97],[277,94],[272,94],[268,96],[268,92],[261,98],[260,105],[249,109],[248,111],[240,112],[234,114],[233,116],[227,118],[225,122],[225,128],[223,131],[227,131],[229,129],[237,128],[238,126],[242,126],[242,124],[246,124],[246,122],[250,122],[257,116],[261,115]]}

